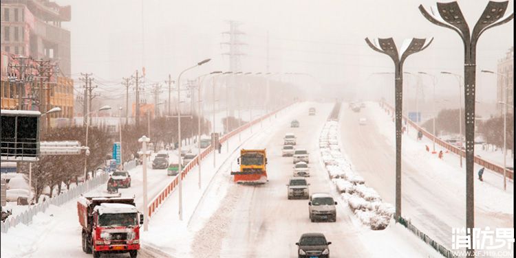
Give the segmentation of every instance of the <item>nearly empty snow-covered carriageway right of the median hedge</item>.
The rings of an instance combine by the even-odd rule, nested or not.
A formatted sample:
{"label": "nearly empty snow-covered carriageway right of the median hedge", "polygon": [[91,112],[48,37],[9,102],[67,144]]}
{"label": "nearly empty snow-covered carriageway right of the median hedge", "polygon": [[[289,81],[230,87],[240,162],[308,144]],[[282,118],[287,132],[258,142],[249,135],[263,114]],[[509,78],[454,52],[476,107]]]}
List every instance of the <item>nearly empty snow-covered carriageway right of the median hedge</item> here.
{"label": "nearly empty snow-covered carriageway right of the median hedge", "polygon": [[[367,118],[365,126],[358,124],[362,117]],[[377,103],[368,102],[360,113],[343,108],[340,123],[341,141],[356,171],[394,204],[396,153],[390,119]],[[404,134],[402,141],[402,216],[450,248],[451,228],[466,223],[465,168],[459,167],[452,154],[438,159],[413,138]],[[493,185],[499,176],[484,176],[484,182],[475,180],[475,226],[513,228],[513,183],[504,192],[500,184]]]}

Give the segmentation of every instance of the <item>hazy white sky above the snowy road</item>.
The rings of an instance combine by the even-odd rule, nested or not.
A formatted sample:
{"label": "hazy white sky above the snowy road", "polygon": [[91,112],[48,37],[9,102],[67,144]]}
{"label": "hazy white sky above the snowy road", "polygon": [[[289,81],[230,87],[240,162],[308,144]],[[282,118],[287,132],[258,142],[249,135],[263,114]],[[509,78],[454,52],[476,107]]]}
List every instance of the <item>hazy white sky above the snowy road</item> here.
{"label": "hazy white sky above the snowy road", "polygon": [[[105,89],[122,77],[145,67],[149,82],[163,82],[205,58],[212,61],[186,77],[209,71],[227,71],[222,56],[228,20],[241,22],[246,34],[241,47],[242,71],[266,71],[266,35],[270,35],[270,71],[310,73],[323,84],[342,84],[361,91],[394,86],[390,78],[368,76],[394,71],[392,61],[369,49],[365,37],[394,37],[400,47],[404,38],[435,37],[430,47],[405,62],[405,71],[442,70],[462,74],[462,41],[455,32],[424,19],[421,3],[429,10],[436,1],[299,1],[299,0],[57,0],[72,5],[72,21],[63,24],[72,33],[72,78],[94,73]],[[484,10],[486,0],[459,1],[469,26]],[[508,11],[512,12],[513,1]],[[143,15],[143,22],[142,22]],[[494,101],[495,77],[480,69],[496,69],[497,60],[514,45],[513,21],[488,30],[477,46],[477,96]],[[143,28],[143,34],[142,34]],[[438,74],[439,75],[439,74]],[[438,94],[456,95],[455,78],[439,75]],[[288,78],[287,78],[288,79]],[[299,78],[298,80],[310,80]],[[424,83],[430,85],[430,80]],[[392,89],[394,91],[394,89]]]}

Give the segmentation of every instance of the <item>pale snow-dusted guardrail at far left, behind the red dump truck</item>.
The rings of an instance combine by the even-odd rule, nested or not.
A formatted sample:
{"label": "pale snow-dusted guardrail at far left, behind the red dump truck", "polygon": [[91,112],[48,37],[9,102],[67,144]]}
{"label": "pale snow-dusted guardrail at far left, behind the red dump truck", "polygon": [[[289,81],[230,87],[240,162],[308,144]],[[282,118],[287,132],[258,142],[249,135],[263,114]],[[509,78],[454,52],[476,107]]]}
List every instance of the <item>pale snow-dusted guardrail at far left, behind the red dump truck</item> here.
{"label": "pale snow-dusted guardrail at far left, behind the red dump truck", "polygon": [[50,206],[50,204],[61,206],[65,202],[68,202],[69,200],[72,200],[77,196],[80,196],[80,194],[92,190],[98,187],[99,185],[105,184],[108,177],[109,176],[107,173],[100,174],[99,176],[96,176],[91,180],[87,180],[85,183],[81,183],[80,185],[77,185],[69,191],[65,191],[64,193],[61,193],[60,195],[54,198],[50,198],[45,202],[40,202],[39,204],[30,206],[30,208],[26,211],[23,211],[23,213],[8,218],[6,221],[0,222],[1,233],[7,233],[9,231],[9,228],[17,226],[20,223],[23,223],[25,225],[30,224],[30,222],[32,222],[32,218],[34,217],[34,215],[36,215],[39,212],[45,212]]}

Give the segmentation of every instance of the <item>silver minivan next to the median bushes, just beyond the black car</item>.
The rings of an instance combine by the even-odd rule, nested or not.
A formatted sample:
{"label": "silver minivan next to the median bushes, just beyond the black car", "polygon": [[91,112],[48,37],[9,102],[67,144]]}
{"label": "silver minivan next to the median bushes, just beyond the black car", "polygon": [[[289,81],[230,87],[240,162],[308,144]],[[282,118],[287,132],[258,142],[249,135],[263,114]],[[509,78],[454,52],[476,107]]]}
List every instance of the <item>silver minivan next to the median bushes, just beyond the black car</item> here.
{"label": "silver minivan next to the median bushes, just beyond the black car", "polygon": [[333,197],[329,193],[314,193],[310,196],[310,202],[308,202],[308,212],[310,213],[310,220],[315,222],[316,220],[325,220],[336,222],[336,207],[337,202],[333,200]]}

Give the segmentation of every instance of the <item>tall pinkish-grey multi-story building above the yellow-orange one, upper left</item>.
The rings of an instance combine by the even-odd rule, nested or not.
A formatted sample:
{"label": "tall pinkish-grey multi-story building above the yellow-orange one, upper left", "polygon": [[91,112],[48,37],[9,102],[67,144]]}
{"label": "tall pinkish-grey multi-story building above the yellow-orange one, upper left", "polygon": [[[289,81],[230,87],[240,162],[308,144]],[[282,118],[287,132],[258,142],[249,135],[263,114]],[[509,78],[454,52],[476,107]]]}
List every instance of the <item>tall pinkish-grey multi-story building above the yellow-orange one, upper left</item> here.
{"label": "tall pinkish-grey multi-story building above the yellow-orange one, upper left", "polygon": [[2,51],[30,56],[35,60],[52,60],[70,74],[70,32],[61,22],[70,21],[69,5],[60,6],[48,0],[1,1]]}

